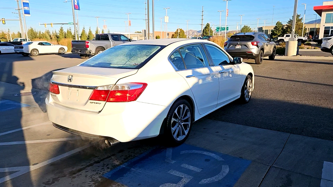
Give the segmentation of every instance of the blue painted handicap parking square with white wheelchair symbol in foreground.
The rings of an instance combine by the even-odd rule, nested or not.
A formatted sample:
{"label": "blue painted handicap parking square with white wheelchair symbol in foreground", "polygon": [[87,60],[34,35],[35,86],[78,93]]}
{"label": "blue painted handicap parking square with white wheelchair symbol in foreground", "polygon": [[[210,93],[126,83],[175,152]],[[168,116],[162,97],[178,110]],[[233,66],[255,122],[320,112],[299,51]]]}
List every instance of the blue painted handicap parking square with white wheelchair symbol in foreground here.
{"label": "blue painted handicap parking square with white wheelchair symbol in foreground", "polygon": [[147,151],[104,177],[129,187],[231,187],[250,163],[250,160],[182,144]]}

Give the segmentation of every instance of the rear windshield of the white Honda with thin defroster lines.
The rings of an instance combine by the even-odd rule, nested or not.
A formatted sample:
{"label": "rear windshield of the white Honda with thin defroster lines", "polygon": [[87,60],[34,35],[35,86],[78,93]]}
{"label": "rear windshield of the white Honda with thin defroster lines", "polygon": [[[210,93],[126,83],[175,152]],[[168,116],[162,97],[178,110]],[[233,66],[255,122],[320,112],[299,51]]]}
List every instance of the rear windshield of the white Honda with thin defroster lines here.
{"label": "rear windshield of the white Honda with thin defroster lines", "polygon": [[163,46],[157,45],[119,45],[88,59],[80,66],[139,69],[162,48]]}

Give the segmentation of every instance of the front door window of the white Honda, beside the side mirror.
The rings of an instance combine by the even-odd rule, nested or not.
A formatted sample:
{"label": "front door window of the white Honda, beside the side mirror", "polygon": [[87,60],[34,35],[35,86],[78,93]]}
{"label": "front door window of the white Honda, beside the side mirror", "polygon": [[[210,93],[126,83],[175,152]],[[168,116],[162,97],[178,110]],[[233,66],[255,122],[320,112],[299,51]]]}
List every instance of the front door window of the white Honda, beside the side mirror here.
{"label": "front door window of the white Honda, beside the side mirror", "polygon": [[205,46],[213,60],[214,66],[230,64],[229,56],[225,54],[221,49],[210,44],[205,44]]}

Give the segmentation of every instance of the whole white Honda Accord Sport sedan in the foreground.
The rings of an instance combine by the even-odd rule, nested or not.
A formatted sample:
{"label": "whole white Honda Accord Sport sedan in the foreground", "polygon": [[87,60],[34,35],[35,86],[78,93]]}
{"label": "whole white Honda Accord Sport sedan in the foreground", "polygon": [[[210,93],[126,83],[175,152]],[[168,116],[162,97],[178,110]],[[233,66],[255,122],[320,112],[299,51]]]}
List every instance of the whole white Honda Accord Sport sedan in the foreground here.
{"label": "whole white Honda Accord Sport sedan in the foreground", "polygon": [[193,121],[251,98],[252,67],[210,41],[129,42],[52,72],[46,98],[57,128],[108,143],[162,135],[183,143]]}

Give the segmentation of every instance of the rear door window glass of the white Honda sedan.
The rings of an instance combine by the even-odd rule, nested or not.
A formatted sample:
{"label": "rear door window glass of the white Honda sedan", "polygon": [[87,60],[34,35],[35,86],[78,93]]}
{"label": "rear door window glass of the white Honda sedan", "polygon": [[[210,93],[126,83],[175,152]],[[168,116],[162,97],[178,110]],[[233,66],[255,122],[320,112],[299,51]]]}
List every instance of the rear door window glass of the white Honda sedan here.
{"label": "rear door window glass of the white Honda sedan", "polygon": [[209,63],[201,44],[194,44],[179,48],[180,55],[184,59],[185,68],[208,67]]}

